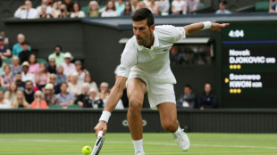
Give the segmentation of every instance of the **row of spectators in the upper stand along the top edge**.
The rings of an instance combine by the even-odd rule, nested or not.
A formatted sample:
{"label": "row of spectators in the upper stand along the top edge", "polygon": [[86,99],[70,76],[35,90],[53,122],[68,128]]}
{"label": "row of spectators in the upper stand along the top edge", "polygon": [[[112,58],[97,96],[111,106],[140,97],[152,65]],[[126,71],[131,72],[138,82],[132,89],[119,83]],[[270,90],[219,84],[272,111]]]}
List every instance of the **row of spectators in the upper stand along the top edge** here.
{"label": "row of spectators in the upper stand along the top edge", "polygon": [[[87,6],[81,6],[72,0],[42,0],[37,8],[33,8],[30,0],[26,0],[14,13],[20,19],[49,18],[84,18],[84,17],[119,17],[130,16],[139,8],[147,7],[154,15],[180,15],[194,12],[199,8],[200,0],[110,0],[99,5],[96,0]],[[226,10],[227,1],[220,3],[217,14],[231,13]]]}

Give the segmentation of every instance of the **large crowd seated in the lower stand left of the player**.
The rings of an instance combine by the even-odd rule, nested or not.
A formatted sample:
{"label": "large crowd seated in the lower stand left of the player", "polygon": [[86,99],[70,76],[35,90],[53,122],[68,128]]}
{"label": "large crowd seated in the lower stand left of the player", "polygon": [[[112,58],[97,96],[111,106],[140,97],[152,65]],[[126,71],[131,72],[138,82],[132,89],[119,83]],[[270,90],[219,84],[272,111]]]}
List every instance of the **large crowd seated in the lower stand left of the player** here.
{"label": "large crowd seated in the lower stand left of the player", "polygon": [[[9,47],[4,32],[0,36],[0,109],[103,108],[109,84],[99,89],[92,76],[71,53],[55,45],[48,61],[38,62],[23,34]],[[7,60],[12,60],[11,64]],[[125,100],[123,100],[125,101]],[[124,105],[128,105],[125,102]],[[122,100],[116,109],[123,109]]]}

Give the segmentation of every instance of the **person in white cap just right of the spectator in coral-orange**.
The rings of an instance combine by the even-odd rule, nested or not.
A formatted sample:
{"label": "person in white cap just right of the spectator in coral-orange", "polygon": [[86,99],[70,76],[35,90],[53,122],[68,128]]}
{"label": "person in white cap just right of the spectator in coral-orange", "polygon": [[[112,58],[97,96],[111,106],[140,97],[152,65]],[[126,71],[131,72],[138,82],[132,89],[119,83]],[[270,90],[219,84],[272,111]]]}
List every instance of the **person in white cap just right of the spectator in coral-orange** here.
{"label": "person in white cap just right of the spectator in coral-orange", "polygon": [[58,104],[58,98],[54,93],[55,93],[54,86],[50,83],[46,84],[44,88],[44,96],[45,96],[47,105]]}

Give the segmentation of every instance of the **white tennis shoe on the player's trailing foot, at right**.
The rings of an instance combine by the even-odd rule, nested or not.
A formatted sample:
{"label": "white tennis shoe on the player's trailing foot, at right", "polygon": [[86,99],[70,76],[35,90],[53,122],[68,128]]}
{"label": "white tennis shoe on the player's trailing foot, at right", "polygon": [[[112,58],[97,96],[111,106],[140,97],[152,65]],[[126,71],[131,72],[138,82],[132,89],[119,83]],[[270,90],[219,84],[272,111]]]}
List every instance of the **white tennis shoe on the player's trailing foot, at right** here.
{"label": "white tennis shoe on the player's trailing foot, at right", "polygon": [[172,136],[179,145],[181,151],[189,151],[189,136],[184,132],[184,129],[172,133]]}

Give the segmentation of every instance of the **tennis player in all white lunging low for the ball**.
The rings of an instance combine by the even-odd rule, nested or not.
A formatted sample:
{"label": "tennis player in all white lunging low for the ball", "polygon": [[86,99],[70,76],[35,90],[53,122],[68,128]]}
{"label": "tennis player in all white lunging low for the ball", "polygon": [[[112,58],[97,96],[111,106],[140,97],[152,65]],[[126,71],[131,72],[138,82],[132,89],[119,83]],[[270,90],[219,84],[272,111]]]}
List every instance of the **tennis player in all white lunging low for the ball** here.
{"label": "tennis player in all white lunging low for the ball", "polygon": [[132,20],[134,36],[127,42],[122,53],[115,85],[95,127],[96,133],[103,131],[105,135],[111,112],[121,99],[124,86],[127,85],[129,98],[127,118],[135,155],[145,155],[142,142],[141,109],[146,93],[151,109],[159,111],[164,130],[172,133],[181,151],[188,151],[189,137],[180,128],[177,119],[173,89],[176,79],[170,68],[169,53],[172,45],[186,36],[203,29],[221,31],[229,24],[206,21],[185,27],[155,26],[154,16],[147,8],[134,12]]}

